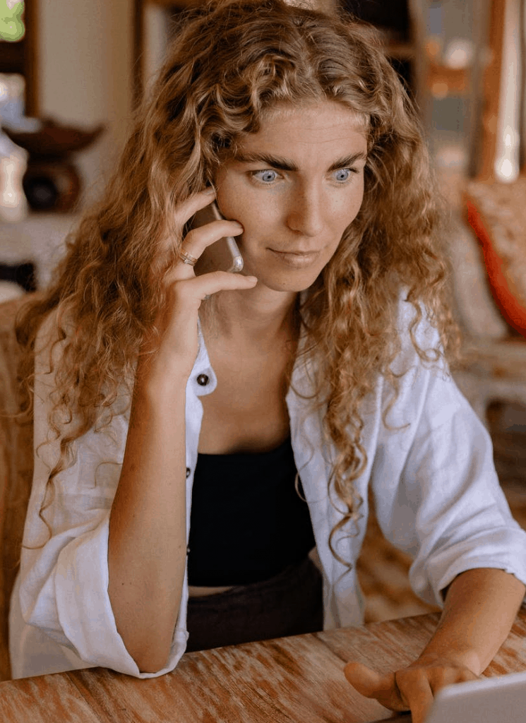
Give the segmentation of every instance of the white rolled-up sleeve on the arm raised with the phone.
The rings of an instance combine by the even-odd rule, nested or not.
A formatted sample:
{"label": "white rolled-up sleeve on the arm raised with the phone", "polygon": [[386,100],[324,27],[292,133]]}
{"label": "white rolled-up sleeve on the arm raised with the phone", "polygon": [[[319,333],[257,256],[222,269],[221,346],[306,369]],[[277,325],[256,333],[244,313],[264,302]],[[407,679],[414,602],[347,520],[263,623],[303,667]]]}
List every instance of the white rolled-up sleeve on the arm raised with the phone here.
{"label": "white rolled-up sleeve on the arm raised with the phone", "polygon": [[[60,353],[56,347],[53,354]],[[139,672],[118,633],[108,595],[109,518],[124,457],[127,414],[116,413],[108,427],[90,429],[75,440],[71,463],[48,482],[60,450],[59,442],[50,440],[53,375],[42,354],[36,371],[35,469],[13,606],[20,619],[9,623],[11,632],[17,631],[18,643],[10,641],[17,677],[50,672],[51,659],[53,672],[103,666],[136,677],[163,675],[186,648],[186,583],[168,661],[155,673]],[[126,409],[122,399],[119,404]]]}

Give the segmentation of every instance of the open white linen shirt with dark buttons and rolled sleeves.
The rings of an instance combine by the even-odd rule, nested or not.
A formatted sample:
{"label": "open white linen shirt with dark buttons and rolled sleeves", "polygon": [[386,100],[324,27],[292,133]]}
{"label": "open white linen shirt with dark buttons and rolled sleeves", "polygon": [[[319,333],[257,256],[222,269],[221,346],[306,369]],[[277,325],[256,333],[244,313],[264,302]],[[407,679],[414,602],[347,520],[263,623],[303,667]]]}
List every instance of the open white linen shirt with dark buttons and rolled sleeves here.
{"label": "open white linen shirt with dark buttons and rolled sleeves", "polygon": [[[286,403],[296,467],[309,504],[324,577],[324,628],[359,625],[363,599],[355,573],[368,515],[368,487],[381,531],[413,556],[410,583],[422,599],[443,604],[441,590],[470,568],[500,568],[526,583],[526,534],[514,521],[493,466],[491,440],[462,397],[444,364],[423,363],[410,342],[413,307],[400,301],[402,351],[392,369],[405,372],[387,414],[392,388],[379,377],[363,407],[366,468],[355,482],[363,500],[358,526],[337,535],[337,552],[353,563],[348,571],[329,550],[341,502],[328,495],[336,450],[322,433],[323,410],[303,398],[311,390],[313,361],[298,361]],[[418,325],[418,342],[438,341],[428,322]],[[53,354],[59,354],[56,345]],[[74,464],[61,471],[46,497],[48,470],[58,458],[48,439],[49,356],[37,356],[35,379],[35,474],[25,525],[20,575],[12,596],[10,654],[14,677],[103,666],[137,677],[173,669],[186,646],[188,585],[165,667],[139,672],[118,634],[108,596],[108,521],[124,457],[129,408],[107,429],[77,440]],[[204,394],[217,380],[199,330],[199,352],[186,385],[187,529],[197,463]],[[298,395],[300,393],[300,395]],[[155,480],[145,480],[155,484]],[[329,498],[332,497],[332,498]],[[51,537],[50,537],[51,534]]]}

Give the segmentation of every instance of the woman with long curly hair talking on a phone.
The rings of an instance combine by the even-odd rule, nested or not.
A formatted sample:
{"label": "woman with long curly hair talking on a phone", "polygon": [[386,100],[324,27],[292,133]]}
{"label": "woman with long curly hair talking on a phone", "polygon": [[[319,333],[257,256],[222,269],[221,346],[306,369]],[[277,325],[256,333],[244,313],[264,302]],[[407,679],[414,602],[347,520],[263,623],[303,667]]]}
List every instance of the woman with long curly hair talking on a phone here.
{"label": "woman with long curly hair talking on a phone", "polygon": [[[226,220],[190,229],[212,200]],[[525,592],[525,535],[447,375],[438,219],[415,112],[366,28],[246,0],[181,29],[20,327],[36,455],[16,675],[148,677],[188,636],[361,622],[368,489],[444,615],[396,680],[351,662],[350,683],[419,722],[480,674]],[[196,276],[223,236],[243,274]]]}

